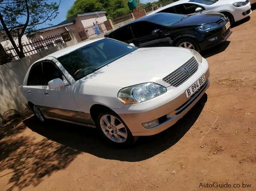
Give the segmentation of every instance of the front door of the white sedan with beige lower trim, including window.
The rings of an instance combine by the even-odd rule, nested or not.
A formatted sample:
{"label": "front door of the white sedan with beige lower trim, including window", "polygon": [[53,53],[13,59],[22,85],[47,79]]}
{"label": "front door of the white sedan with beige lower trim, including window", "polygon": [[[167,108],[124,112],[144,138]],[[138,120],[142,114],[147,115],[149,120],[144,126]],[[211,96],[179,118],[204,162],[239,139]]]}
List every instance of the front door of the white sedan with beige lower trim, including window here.
{"label": "front door of the white sedan with beige lower trim, including window", "polygon": [[[72,85],[63,75],[61,70],[51,60],[42,61],[44,79],[43,100],[41,111],[46,117],[79,122],[80,112],[75,102]],[[60,78],[66,85],[50,89],[48,82]]]}

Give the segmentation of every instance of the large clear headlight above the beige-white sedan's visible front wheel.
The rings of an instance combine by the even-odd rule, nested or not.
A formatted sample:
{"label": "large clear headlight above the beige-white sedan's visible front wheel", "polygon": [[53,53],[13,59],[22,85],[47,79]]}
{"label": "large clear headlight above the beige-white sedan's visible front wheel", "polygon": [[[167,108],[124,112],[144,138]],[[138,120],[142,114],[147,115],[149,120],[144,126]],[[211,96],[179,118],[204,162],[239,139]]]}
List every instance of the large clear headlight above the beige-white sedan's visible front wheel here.
{"label": "large clear headlight above the beige-white sedan's visible front wheel", "polygon": [[157,97],[166,91],[166,87],[154,82],[147,82],[125,87],[118,92],[117,97],[124,104],[137,104]]}

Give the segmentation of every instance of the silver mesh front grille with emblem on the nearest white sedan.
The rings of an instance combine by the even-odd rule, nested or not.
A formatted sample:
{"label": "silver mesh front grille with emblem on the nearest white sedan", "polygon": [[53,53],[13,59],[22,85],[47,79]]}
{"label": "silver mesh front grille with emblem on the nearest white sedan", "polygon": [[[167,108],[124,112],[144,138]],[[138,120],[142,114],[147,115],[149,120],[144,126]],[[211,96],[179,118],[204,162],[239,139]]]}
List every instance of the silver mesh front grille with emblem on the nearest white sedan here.
{"label": "silver mesh front grille with emblem on the nearest white sedan", "polygon": [[[189,74],[187,74],[183,70],[184,67],[186,67],[186,69],[189,71]],[[167,82],[171,86],[178,87],[187,79],[189,79],[189,77],[192,76],[197,71],[197,69],[198,69],[198,62],[193,56],[191,59],[189,59],[189,61],[187,61],[182,66],[180,66],[177,70],[175,70],[168,76],[165,76],[163,78],[163,81]]]}

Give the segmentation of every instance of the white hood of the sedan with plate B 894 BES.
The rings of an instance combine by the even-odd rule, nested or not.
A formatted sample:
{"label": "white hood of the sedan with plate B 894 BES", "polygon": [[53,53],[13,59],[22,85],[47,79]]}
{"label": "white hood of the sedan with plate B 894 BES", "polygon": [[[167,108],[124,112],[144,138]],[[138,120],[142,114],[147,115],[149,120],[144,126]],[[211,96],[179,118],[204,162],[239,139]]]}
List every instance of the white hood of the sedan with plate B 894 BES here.
{"label": "white hood of the sedan with plate B 894 BES", "polygon": [[170,86],[162,79],[192,57],[179,47],[140,48],[80,79],[82,82],[127,87],[144,82]]}

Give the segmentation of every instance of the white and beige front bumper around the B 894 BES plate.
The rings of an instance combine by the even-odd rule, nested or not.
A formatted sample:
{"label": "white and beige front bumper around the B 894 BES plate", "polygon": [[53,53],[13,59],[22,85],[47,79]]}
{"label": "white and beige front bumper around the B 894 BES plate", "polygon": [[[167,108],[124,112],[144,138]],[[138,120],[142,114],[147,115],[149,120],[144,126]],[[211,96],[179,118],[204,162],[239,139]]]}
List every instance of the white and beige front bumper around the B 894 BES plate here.
{"label": "white and beige front bumper around the B 894 BES plate", "polygon": [[[203,62],[207,61],[203,59]],[[202,63],[203,64],[203,63]],[[185,90],[199,79],[202,74],[205,74],[207,79],[204,85],[189,99],[186,98]],[[160,133],[163,130],[168,129],[170,126],[174,125],[179,119],[181,119],[203,96],[204,92],[207,90],[210,84],[210,72],[207,67],[198,69],[193,76],[188,80],[188,83],[184,83],[179,87],[168,87],[167,92],[161,96],[158,96],[152,100],[148,100],[141,104],[132,104],[127,109],[125,113],[123,109],[114,109],[115,112],[122,118],[125,124],[128,126],[133,136],[148,136]],[[172,93],[179,92],[174,99],[172,99]],[[166,102],[166,100],[168,100]],[[152,108],[152,104],[160,105]],[[140,107],[141,106],[141,107]],[[139,112],[141,108],[141,112]],[[137,112],[136,112],[137,111]],[[158,119],[162,116],[166,118],[164,121],[153,128],[146,129],[142,126],[142,123]]]}

